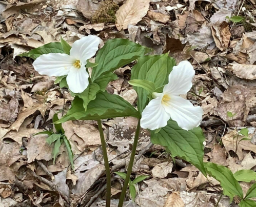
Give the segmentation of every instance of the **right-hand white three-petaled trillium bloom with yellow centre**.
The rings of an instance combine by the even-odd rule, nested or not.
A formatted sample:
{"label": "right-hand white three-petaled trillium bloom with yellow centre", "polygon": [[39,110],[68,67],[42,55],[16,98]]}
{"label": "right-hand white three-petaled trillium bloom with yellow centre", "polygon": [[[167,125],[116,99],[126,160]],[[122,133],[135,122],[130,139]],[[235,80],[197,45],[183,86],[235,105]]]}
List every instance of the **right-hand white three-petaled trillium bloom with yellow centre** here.
{"label": "right-hand white three-petaled trillium bloom with yellow centre", "polygon": [[203,109],[200,106],[194,107],[189,100],[180,96],[191,89],[193,76],[194,69],[189,61],[181,61],[178,66],[173,67],[163,93],[153,92],[154,99],[142,112],[142,128],[155,130],[165,127],[170,118],[185,130],[200,125]]}

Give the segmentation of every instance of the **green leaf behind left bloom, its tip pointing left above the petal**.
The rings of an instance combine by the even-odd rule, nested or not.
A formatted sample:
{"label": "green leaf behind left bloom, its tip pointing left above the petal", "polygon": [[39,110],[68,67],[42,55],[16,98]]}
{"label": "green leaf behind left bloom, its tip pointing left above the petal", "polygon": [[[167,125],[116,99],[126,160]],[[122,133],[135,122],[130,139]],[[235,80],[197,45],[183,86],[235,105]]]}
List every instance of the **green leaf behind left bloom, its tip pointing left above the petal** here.
{"label": "green leaf behind left bloom, its tip pointing left above the petal", "polygon": [[31,57],[32,59],[36,59],[40,55],[48,54],[48,53],[65,53],[62,48],[61,43],[48,43],[42,47],[32,49],[29,52],[22,53],[18,56],[20,57]]}

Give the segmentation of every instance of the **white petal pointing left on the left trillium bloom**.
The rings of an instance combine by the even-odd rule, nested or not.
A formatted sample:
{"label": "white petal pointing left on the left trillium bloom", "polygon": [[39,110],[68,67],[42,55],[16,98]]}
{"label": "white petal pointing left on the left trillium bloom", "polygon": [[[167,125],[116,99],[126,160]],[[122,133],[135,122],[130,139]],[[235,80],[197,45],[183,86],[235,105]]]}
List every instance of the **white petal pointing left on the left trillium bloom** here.
{"label": "white petal pointing left on the left trillium bloom", "polygon": [[33,63],[35,71],[41,75],[67,75],[74,64],[74,57],[62,53],[48,53],[37,57]]}

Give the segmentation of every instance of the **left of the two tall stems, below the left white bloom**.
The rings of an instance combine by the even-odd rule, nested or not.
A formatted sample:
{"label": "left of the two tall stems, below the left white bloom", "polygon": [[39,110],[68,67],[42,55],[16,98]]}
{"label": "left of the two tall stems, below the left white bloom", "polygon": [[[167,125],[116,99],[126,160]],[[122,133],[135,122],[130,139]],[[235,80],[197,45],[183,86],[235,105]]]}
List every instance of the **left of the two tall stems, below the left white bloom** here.
{"label": "left of the two tall stems, below the left white bloom", "polygon": [[107,177],[107,190],[106,190],[107,191],[107,202],[106,202],[106,207],[110,207],[111,175],[110,175],[110,169],[109,169],[109,163],[108,163],[108,154],[107,154],[106,143],[105,143],[105,138],[104,138],[103,129],[102,129],[102,122],[101,122],[101,120],[97,120],[97,122],[98,122],[100,136],[101,136],[102,152],[103,152],[103,158],[104,158],[104,163],[105,163],[105,168],[106,168],[106,177]]}

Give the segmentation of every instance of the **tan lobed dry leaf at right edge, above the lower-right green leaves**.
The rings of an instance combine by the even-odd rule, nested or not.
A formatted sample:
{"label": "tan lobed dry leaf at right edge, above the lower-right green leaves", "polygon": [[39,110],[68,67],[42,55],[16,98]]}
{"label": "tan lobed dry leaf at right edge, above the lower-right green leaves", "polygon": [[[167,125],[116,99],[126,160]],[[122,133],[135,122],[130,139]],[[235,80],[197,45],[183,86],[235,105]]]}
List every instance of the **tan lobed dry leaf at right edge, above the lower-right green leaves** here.
{"label": "tan lobed dry leaf at right edge, above the lower-right green leaves", "polygon": [[[251,137],[252,134],[249,134],[249,138]],[[256,152],[256,145],[251,143],[250,140],[241,140],[243,138],[244,136],[238,136],[238,132],[236,130],[227,133],[222,138],[222,142],[225,146],[226,152],[228,153],[230,150],[232,150],[238,155],[239,160],[242,160],[244,158],[243,150],[249,150],[254,153]]]}

